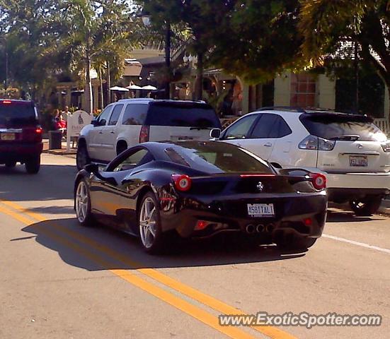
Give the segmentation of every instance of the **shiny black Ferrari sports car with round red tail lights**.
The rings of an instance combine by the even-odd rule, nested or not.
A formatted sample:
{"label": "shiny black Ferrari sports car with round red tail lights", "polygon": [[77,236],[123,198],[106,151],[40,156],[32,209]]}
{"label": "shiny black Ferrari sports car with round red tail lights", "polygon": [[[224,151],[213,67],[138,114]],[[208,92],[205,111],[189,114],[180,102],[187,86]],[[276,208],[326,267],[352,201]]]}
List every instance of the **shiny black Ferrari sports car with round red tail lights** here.
{"label": "shiny black Ferrari sports car with round red tail lights", "polygon": [[76,176],[81,225],[103,222],[141,238],[150,253],[180,237],[241,232],[265,244],[312,246],[326,219],[326,178],[279,172],[256,155],[214,141],[142,143]]}

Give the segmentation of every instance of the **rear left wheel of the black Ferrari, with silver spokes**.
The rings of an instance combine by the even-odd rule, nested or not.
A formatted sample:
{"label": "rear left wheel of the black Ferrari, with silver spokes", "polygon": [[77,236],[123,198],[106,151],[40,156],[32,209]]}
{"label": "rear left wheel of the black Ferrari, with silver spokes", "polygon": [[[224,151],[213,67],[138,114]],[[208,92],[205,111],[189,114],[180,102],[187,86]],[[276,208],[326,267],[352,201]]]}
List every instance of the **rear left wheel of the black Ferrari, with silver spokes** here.
{"label": "rear left wheel of the black Ferrari, with silver spokes", "polygon": [[139,204],[138,227],[144,250],[149,254],[161,252],[165,234],[161,230],[159,204],[151,192],[145,194]]}

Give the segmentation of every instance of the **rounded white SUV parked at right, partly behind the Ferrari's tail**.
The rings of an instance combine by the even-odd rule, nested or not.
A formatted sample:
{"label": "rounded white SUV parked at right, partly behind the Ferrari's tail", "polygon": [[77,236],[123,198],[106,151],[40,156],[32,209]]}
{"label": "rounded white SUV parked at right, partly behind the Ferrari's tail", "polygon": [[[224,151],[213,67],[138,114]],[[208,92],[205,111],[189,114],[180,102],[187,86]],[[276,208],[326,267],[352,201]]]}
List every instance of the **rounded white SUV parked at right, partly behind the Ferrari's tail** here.
{"label": "rounded white SUV parked at right, partly behind the Ferrari's tail", "polygon": [[268,107],[246,114],[219,140],[271,162],[326,175],[329,200],[375,213],[390,193],[390,143],[370,117]]}

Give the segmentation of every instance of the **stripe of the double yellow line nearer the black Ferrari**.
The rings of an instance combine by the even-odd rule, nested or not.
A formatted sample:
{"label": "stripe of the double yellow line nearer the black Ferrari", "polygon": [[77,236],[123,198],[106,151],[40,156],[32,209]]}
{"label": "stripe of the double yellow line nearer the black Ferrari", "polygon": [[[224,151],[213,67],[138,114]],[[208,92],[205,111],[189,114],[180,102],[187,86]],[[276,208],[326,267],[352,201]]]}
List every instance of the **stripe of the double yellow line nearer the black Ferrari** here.
{"label": "stripe of the double yellow line nearer the black Ferrari", "polygon": [[[173,290],[176,290],[181,294],[186,295],[187,297],[190,297],[197,302],[200,302],[201,304],[205,304],[207,307],[219,311],[222,314],[246,314],[245,312],[231,307],[229,304],[225,304],[224,302],[221,302],[218,299],[211,297],[210,295],[206,295],[205,293],[195,290],[195,288],[193,287],[180,283],[178,280],[175,280],[168,275],[159,272],[158,270],[154,270],[153,268],[137,268],[137,266],[141,266],[141,263],[137,263],[128,256],[124,256],[123,254],[120,254],[119,252],[111,249],[110,247],[96,242],[95,240],[90,239],[88,237],[85,237],[82,234],[68,230],[66,227],[59,225],[58,222],[48,220],[43,215],[31,212],[30,210],[28,210],[28,208],[23,208],[22,206],[19,206],[17,203],[13,203],[12,201],[0,200],[0,202],[7,207],[11,207],[15,210],[18,210],[21,213],[24,213],[35,220],[51,222],[52,225],[55,225],[57,228],[62,230],[62,232],[67,233],[70,237],[77,239],[79,242],[83,242],[85,244],[88,244],[88,246],[93,247],[94,249],[98,249],[98,251],[101,251],[108,256],[115,258],[115,260],[117,261],[125,263],[127,266],[131,266],[132,268],[134,268],[134,270],[137,270],[138,272],[147,275],[149,278],[158,281],[162,285],[171,287]],[[293,335],[273,326],[253,326],[252,328],[264,335],[267,335],[271,339],[296,339],[296,337],[294,337]]]}

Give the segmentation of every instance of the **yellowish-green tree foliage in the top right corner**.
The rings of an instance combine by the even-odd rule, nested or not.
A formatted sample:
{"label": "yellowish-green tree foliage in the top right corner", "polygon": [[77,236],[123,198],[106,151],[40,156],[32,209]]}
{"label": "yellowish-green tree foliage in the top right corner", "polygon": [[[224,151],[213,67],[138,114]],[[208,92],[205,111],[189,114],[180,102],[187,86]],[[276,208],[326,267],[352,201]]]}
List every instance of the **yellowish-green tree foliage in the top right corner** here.
{"label": "yellowish-green tree foliage in the top right corner", "polygon": [[390,1],[304,0],[299,30],[303,54],[313,64],[343,64],[351,59],[353,44],[359,57],[371,64],[390,87]]}

